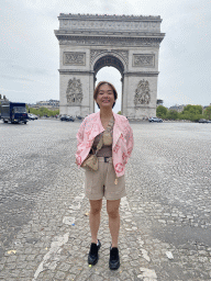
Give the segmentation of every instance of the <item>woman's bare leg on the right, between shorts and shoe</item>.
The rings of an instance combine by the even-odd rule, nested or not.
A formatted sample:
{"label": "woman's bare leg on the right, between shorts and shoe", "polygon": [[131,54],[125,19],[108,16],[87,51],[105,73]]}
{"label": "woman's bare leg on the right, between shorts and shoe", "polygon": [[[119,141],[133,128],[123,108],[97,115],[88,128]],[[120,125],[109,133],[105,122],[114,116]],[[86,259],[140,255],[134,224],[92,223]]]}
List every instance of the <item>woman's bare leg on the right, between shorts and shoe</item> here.
{"label": "woman's bare leg on the right, between shorts and shoe", "polygon": [[107,212],[109,215],[109,228],[112,238],[112,248],[118,248],[118,237],[120,231],[120,199],[119,200],[107,200]]}

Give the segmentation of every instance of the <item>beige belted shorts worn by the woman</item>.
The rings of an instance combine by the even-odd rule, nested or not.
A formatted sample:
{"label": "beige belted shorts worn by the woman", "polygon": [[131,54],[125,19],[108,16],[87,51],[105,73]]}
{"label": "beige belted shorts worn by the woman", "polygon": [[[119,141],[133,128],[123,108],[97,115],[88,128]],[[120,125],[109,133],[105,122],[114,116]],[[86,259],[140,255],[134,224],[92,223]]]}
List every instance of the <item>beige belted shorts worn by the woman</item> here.
{"label": "beige belted shorts worn by the woman", "polygon": [[98,157],[98,170],[85,169],[85,192],[90,200],[100,200],[103,196],[107,200],[119,200],[126,195],[124,176],[115,181],[115,171],[112,157],[107,159]]}

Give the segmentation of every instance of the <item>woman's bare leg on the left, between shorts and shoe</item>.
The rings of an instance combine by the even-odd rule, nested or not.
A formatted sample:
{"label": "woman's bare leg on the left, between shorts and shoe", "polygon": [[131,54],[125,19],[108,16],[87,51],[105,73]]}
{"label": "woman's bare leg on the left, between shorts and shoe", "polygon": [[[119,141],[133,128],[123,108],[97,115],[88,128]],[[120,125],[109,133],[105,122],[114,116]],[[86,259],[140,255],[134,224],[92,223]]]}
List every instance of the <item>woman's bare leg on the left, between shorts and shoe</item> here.
{"label": "woman's bare leg on the left, between shorts and shoe", "polygon": [[100,211],[102,207],[102,199],[100,200],[89,200],[90,202],[90,213],[89,213],[89,224],[91,229],[91,243],[98,243],[98,231],[100,226]]}

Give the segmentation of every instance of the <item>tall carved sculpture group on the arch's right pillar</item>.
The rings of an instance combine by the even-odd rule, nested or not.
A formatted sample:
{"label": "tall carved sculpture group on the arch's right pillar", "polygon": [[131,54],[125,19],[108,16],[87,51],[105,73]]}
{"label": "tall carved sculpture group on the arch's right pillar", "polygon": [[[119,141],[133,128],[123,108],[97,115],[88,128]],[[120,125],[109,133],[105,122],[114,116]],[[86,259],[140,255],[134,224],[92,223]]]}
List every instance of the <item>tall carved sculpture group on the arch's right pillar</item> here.
{"label": "tall carved sculpture group on the arch's right pillar", "polygon": [[140,104],[149,104],[151,102],[151,90],[148,81],[145,81],[144,79],[141,80],[137,85],[137,89],[135,90],[135,98],[134,103],[135,106],[138,106]]}

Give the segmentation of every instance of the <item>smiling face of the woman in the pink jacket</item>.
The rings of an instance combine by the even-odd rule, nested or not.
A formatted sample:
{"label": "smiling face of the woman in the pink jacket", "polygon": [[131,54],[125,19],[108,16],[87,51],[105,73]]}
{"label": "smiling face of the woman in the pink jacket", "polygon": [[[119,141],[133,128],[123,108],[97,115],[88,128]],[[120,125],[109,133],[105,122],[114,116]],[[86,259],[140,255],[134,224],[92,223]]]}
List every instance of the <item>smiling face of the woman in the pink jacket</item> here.
{"label": "smiling face of the woman in the pink jacket", "polygon": [[112,109],[115,99],[113,89],[108,83],[100,86],[96,102],[99,104],[100,109]]}

